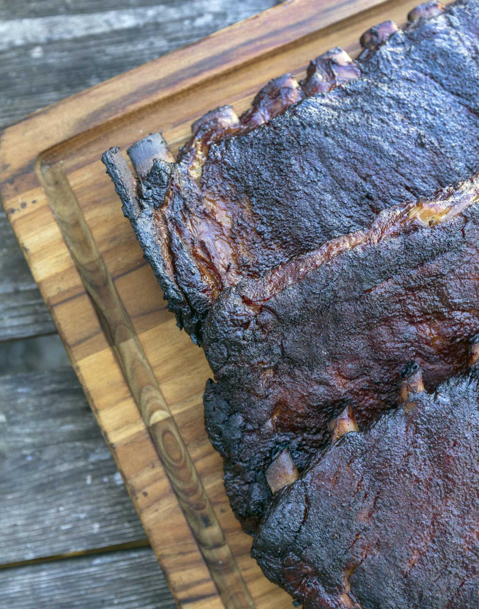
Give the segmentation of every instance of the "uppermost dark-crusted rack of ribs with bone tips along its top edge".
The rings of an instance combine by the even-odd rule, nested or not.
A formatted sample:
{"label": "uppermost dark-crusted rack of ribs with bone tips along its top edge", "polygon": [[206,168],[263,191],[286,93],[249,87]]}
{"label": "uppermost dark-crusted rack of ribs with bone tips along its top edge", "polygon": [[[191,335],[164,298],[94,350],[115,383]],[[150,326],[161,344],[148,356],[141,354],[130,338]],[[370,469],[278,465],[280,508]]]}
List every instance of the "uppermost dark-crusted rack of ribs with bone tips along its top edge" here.
{"label": "uppermost dark-crusted rack of ribs with bone tips along its top edge", "polygon": [[206,114],[176,163],[158,134],[136,144],[130,192],[117,150],[105,154],[195,342],[225,287],[476,171],[479,2],[429,2],[410,17],[405,30],[386,22],[366,32],[358,62],[332,49],[303,82],[268,83],[242,117],[231,107]]}

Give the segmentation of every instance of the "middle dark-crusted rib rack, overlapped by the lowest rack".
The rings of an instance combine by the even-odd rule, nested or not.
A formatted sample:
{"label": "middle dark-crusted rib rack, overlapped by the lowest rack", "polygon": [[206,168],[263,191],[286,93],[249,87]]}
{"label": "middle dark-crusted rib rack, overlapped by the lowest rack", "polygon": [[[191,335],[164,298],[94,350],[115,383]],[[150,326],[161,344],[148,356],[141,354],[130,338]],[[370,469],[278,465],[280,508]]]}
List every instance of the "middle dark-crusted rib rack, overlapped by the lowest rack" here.
{"label": "middle dark-crusted rib rack, overlapped by the lowest rack", "polygon": [[265,471],[287,448],[299,472],[352,400],[360,427],[396,402],[408,361],[432,389],[466,370],[479,333],[479,178],[383,211],[219,295],[203,348],[209,438],[246,530],[271,497]]}

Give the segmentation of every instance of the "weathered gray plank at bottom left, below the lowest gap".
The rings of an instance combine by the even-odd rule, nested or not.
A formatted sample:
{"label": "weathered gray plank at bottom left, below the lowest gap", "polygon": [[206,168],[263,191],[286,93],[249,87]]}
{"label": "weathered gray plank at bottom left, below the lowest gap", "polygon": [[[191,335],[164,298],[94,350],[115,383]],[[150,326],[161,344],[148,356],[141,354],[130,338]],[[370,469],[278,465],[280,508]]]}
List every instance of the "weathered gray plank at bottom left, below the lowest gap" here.
{"label": "weathered gray plank at bottom left, below the lowest gap", "polygon": [[173,609],[149,547],[0,571],[0,609]]}

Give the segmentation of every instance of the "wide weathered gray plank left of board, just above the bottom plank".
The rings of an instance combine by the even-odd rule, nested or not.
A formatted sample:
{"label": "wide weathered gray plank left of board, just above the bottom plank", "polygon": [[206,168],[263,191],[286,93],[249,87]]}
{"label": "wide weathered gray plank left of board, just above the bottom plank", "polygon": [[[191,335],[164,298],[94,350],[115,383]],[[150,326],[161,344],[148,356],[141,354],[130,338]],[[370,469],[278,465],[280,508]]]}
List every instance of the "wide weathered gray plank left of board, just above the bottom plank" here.
{"label": "wide weathered gray plank left of board, just above the bottom plank", "polygon": [[0,376],[0,497],[2,564],[145,538],[71,368]]}

